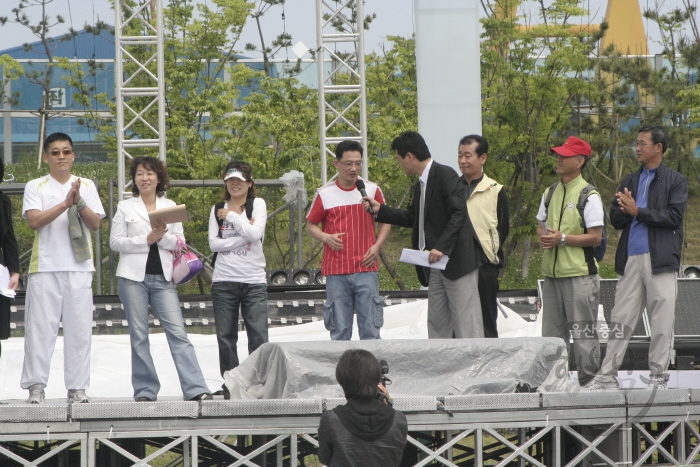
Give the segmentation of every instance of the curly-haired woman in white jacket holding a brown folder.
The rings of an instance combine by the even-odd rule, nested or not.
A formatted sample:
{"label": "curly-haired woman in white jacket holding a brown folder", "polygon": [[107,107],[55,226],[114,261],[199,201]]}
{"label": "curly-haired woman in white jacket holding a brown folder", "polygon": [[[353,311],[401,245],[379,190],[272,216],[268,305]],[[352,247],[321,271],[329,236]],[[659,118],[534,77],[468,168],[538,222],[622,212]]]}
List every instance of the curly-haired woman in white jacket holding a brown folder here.
{"label": "curly-haired woman in white jacket holding a brown folder", "polygon": [[160,222],[151,227],[148,212],[175,206],[166,199],[168,173],[155,157],[137,157],[131,163],[133,198],[121,201],[112,219],[109,245],[119,252],[119,300],[129,322],[131,384],[134,400],[155,401],[160,381],[148,340],[148,305],[160,320],[175,361],[185,400],[212,399],[185,332],[180,299],[172,281],[173,254],[182,224]]}

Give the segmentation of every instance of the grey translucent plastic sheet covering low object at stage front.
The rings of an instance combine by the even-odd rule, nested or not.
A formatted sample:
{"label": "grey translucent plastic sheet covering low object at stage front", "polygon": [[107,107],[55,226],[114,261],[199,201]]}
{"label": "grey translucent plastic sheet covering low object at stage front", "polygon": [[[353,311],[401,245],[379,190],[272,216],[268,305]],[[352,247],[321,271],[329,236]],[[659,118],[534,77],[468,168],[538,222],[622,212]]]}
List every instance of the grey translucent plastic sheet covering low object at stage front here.
{"label": "grey translucent plastic sheet covering low object at stage front", "polygon": [[564,341],[552,337],[267,343],[226,372],[232,399],[343,397],[335,367],[363,348],[389,364],[392,396],[447,396],[570,388]]}

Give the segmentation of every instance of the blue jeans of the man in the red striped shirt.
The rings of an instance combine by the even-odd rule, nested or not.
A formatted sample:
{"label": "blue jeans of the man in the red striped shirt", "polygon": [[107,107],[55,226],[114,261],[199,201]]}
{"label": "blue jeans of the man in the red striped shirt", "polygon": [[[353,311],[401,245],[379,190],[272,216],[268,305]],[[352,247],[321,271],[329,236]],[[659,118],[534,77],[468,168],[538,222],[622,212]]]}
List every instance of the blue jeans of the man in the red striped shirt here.
{"label": "blue jeans of the man in the red striped shirt", "polygon": [[331,274],[326,277],[323,322],[334,341],[352,338],[352,317],[357,313],[360,339],[381,339],[384,325],[384,297],[379,296],[376,272]]}

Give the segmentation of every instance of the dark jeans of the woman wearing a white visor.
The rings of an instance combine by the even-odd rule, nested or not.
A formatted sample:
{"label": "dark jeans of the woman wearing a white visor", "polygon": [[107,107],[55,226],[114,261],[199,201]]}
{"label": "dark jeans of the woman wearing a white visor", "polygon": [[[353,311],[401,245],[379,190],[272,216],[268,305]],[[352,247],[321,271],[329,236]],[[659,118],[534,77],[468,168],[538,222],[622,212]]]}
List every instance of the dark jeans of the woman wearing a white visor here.
{"label": "dark jeans of the woman wearing a white visor", "polygon": [[214,306],[216,341],[219,344],[219,370],[224,372],[238,366],[238,309],[241,310],[248,354],[267,342],[267,284],[243,282],[214,282],[211,285]]}

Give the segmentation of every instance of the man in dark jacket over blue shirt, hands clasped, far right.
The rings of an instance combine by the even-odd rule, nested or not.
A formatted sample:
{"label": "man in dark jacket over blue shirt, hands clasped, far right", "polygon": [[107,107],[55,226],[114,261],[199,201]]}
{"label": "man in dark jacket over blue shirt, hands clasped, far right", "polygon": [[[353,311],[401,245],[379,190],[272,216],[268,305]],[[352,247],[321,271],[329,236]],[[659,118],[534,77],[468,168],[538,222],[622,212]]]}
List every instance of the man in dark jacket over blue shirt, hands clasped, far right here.
{"label": "man in dark jacket over blue shirt, hands clasped, far right", "polygon": [[651,331],[649,388],[666,389],[676,312],[676,275],[683,244],[688,181],[663,164],[668,134],[662,126],[639,129],[642,166],[625,176],[610,205],[610,222],[622,235],[615,254],[620,274],[610,318],[607,352],[591,389],[616,389],[615,376],[641,313]]}

